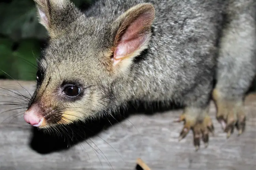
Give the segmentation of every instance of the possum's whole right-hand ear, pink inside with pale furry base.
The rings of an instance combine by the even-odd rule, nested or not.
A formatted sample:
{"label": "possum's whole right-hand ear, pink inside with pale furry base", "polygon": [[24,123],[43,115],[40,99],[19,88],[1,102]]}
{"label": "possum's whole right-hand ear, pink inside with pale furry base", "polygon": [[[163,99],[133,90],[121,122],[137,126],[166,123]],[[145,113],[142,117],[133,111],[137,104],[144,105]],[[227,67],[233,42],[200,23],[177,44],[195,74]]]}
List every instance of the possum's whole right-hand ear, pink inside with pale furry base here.
{"label": "possum's whole right-hand ear, pink inside with pale furry base", "polygon": [[115,23],[119,25],[113,48],[115,67],[127,68],[133,58],[147,48],[154,18],[155,9],[150,3],[133,6],[117,18]]}

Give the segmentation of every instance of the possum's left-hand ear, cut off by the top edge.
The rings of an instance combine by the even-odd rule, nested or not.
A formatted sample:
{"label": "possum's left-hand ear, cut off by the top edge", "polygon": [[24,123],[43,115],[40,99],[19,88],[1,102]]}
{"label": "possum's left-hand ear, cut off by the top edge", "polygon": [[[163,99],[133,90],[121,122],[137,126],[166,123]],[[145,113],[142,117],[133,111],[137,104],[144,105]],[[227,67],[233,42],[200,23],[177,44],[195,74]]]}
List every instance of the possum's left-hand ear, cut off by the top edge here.
{"label": "possum's left-hand ear, cut off by the top edge", "polygon": [[57,36],[79,15],[79,10],[70,0],[34,0],[39,22],[51,37]]}

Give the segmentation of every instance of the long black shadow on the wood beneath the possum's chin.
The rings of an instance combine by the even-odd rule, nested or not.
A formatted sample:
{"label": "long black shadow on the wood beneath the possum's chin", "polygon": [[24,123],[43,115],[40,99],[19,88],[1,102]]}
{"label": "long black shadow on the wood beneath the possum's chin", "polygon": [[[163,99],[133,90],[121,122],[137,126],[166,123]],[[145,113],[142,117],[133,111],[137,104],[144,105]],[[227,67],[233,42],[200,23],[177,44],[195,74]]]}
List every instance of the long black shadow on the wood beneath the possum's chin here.
{"label": "long black shadow on the wood beneath the possum's chin", "polygon": [[[168,102],[169,103],[169,102]],[[150,107],[149,107],[150,106]],[[154,106],[154,107],[152,107]],[[124,108],[124,107],[120,107]],[[40,130],[36,127],[32,129],[32,139],[30,147],[40,154],[48,154],[60,150],[67,150],[77,143],[83,142],[91,137],[97,136],[102,130],[106,130],[117,123],[122,122],[133,114],[154,115],[156,112],[161,113],[171,109],[177,109],[174,104],[163,105],[159,102],[143,103],[137,102],[128,103],[127,109],[120,109],[119,113],[109,115],[108,117],[88,120],[86,122],[76,122],[70,125],[58,125],[53,130]],[[109,110],[106,110],[109,112]]]}

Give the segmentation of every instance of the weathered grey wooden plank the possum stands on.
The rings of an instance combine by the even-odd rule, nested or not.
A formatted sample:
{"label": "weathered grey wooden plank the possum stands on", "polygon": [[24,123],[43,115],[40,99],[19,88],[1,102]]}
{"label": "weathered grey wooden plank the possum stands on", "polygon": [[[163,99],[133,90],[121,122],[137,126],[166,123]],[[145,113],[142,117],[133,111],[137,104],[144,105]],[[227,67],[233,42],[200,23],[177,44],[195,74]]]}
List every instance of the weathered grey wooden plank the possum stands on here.
{"label": "weathered grey wooden plank the possum stands on", "polygon": [[[33,82],[20,83],[33,92]],[[22,88],[8,84],[17,83],[0,81],[0,87],[26,94]],[[8,93],[3,89],[0,92],[1,95]],[[14,100],[0,96],[0,101]],[[0,106],[0,112],[13,108]],[[207,149],[201,146],[198,152],[194,150],[191,132],[178,142],[182,124],[172,122],[179,117],[181,110],[131,115],[94,137],[56,152],[46,151],[56,146],[51,139],[47,141],[40,134],[37,135],[38,140],[34,139],[36,130],[23,120],[22,114],[14,118],[19,111],[0,114],[0,170],[132,170],[136,167],[137,158],[141,158],[152,170],[256,169],[256,95],[246,98],[248,119],[245,133],[238,137],[235,131],[228,140],[215,119],[212,103],[210,115],[214,120],[215,137],[210,137]],[[58,142],[57,145],[61,145],[63,141]],[[46,153],[42,154],[44,150]]]}

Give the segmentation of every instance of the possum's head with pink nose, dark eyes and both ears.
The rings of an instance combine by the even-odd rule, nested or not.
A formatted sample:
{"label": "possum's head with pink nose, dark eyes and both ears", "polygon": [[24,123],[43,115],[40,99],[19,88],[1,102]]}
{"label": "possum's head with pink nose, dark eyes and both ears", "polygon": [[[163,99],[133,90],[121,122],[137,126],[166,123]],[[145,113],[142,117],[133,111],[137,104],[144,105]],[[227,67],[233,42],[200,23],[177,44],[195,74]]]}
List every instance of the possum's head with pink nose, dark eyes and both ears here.
{"label": "possum's head with pink nose, dark eyes and both ears", "polygon": [[86,17],[69,0],[34,1],[50,38],[25,121],[43,128],[98,117],[110,107],[113,82],[128,76],[133,59],[147,48],[153,5],[100,18]]}

